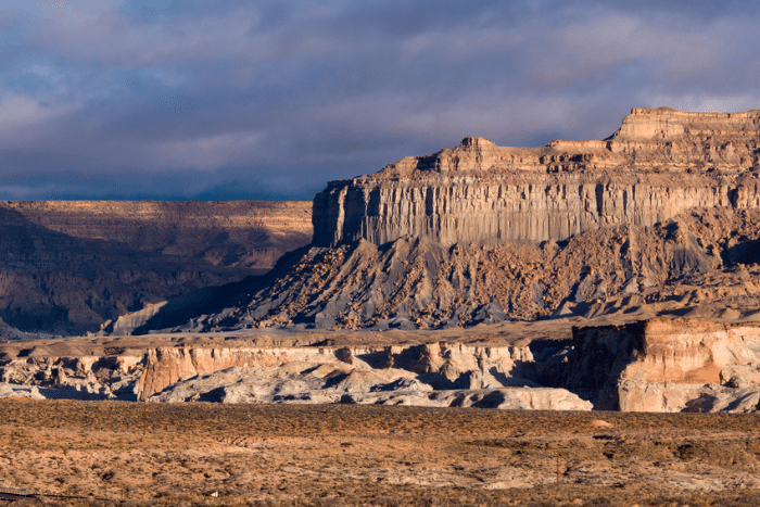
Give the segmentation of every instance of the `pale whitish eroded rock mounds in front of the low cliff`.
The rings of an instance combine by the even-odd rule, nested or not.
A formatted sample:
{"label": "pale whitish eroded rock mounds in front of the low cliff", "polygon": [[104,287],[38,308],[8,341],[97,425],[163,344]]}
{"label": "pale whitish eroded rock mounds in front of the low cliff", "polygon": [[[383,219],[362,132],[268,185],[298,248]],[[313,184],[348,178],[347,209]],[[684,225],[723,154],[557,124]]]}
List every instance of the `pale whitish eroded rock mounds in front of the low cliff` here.
{"label": "pale whitish eroded rock mounds in front of the low cliff", "polygon": [[[229,368],[179,382],[152,402],[206,401],[219,403],[341,403],[476,407],[504,410],[591,410],[592,404],[565,389],[510,386],[434,390],[389,368]],[[304,368],[305,365],[301,366]],[[516,382],[517,384],[518,382]]]}

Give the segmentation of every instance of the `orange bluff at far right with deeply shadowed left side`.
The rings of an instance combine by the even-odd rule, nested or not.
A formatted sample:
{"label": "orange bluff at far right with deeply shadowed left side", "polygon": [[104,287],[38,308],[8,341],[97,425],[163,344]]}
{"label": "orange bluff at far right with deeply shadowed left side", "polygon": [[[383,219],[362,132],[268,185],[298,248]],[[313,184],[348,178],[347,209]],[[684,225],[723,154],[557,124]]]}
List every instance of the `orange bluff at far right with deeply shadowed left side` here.
{"label": "orange bluff at far right with deeply shadowed left side", "polygon": [[623,411],[760,410],[760,325],[664,319],[573,330],[568,388]]}

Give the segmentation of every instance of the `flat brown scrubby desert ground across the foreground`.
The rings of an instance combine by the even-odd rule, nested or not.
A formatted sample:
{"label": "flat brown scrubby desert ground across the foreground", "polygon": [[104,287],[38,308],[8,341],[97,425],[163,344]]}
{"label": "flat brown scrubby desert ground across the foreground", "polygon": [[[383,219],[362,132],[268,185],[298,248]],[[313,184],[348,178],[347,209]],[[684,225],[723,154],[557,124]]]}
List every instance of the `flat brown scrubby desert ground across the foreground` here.
{"label": "flat brown scrubby desert ground across the foreground", "polygon": [[752,415],[8,400],[0,496],[65,495],[13,505],[758,505],[759,436]]}

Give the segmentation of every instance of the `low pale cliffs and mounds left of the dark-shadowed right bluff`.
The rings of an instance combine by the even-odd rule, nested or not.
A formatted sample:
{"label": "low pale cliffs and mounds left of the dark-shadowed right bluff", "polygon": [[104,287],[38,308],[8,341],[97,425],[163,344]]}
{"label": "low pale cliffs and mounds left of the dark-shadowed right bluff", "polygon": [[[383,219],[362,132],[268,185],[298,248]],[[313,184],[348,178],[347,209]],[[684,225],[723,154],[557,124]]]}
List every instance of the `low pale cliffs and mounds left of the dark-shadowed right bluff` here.
{"label": "low pale cliffs and mounds left of the dark-shadowed right bluff", "polygon": [[0,397],[592,407],[565,389],[531,380],[540,379],[546,368],[537,367],[529,346],[166,346],[104,352],[110,354],[51,356],[34,347],[12,356],[7,352],[0,360]]}

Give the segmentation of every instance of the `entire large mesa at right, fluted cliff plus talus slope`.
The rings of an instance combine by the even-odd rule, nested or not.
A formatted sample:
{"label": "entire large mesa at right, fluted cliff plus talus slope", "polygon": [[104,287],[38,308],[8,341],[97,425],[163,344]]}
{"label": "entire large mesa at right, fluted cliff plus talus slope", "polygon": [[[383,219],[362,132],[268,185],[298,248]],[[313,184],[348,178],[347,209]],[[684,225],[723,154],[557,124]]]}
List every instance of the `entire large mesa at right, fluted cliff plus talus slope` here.
{"label": "entire large mesa at right, fluted cliff plus talus slope", "polygon": [[604,141],[502,148],[466,138],[331,182],[314,201],[311,248],[262,279],[129,316],[130,326],[755,318],[759,122],[758,111],[633,110]]}

